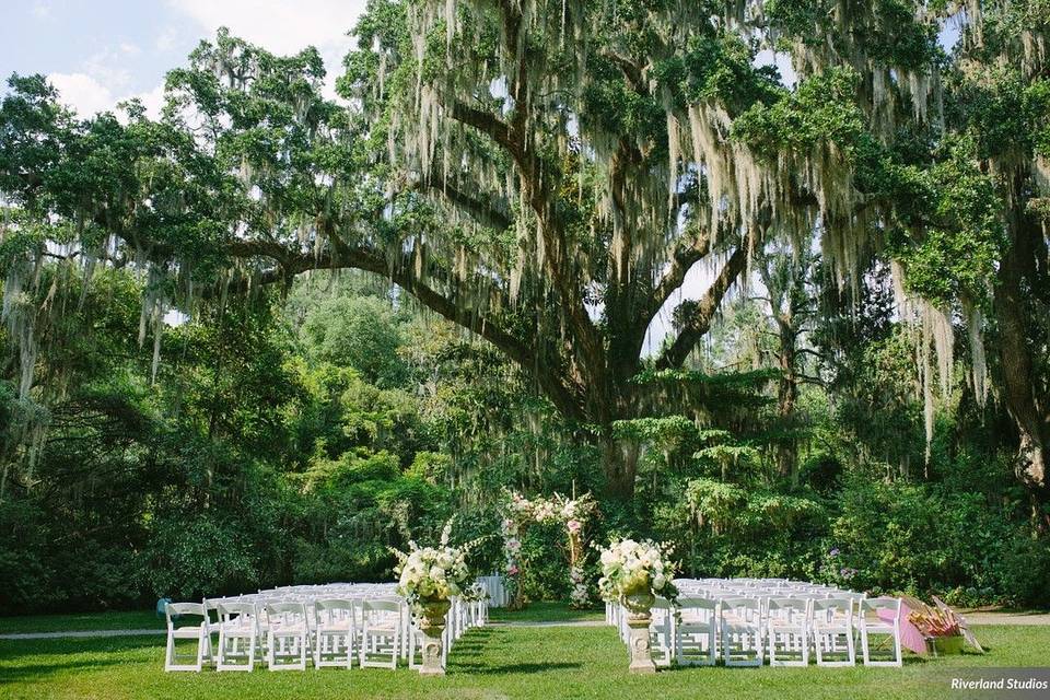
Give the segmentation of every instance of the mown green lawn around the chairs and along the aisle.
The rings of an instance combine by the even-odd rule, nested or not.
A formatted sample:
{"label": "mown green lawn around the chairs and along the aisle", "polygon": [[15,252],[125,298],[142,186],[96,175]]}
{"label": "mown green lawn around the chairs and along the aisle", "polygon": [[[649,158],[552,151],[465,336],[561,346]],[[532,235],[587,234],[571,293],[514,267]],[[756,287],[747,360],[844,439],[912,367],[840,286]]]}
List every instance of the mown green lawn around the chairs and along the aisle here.
{"label": "mown green lawn around the chairs and along the aisle", "polygon": [[[563,610],[561,614],[565,614]],[[165,674],[163,638],[0,641],[0,697],[128,698],[622,698],[778,700],[944,698],[952,668],[1038,666],[1048,627],[981,627],[990,652],[908,658],[903,668],[687,668],[630,676],[627,649],[607,627],[489,627],[457,643],[444,678],[407,668],[252,674]]]}

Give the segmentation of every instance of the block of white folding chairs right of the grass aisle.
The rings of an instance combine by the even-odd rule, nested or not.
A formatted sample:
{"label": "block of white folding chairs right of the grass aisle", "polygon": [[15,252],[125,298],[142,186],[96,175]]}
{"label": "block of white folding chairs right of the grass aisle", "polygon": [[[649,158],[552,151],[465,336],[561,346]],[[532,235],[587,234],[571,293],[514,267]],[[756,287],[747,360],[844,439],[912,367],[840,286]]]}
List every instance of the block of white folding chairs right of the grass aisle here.
{"label": "block of white folding chairs right of the grass aisle", "polygon": [[[627,641],[627,615],[619,605],[607,615]],[[806,666],[810,651],[819,666],[852,666],[856,642],[868,666],[900,666],[899,598],[684,595],[673,606],[657,598],[650,626],[660,665]],[[873,640],[885,638],[889,657],[876,658]]]}

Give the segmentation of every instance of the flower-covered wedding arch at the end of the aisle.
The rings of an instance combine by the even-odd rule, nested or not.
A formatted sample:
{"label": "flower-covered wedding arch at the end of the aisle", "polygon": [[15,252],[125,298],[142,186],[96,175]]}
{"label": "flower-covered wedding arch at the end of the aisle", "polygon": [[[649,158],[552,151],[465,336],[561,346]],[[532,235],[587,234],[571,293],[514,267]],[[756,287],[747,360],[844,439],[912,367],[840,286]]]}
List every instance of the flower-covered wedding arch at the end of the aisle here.
{"label": "flower-covered wedding arch at the end of the aisle", "polygon": [[586,579],[583,573],[584,536],[583,528],[596,510],[594,498],[585,493],[580,498],[568,499],[558,493],[547,499],[526,499],[521,493],[509,492],[503,504],[503,553],[506,558],[503,568],[503,584],[512,609],[524,607],[521,578],[522,538],[533,523],[561,523],[568,538],[569,581],[572,584],[570,599],[573,607],[585,607],[591,602]]}

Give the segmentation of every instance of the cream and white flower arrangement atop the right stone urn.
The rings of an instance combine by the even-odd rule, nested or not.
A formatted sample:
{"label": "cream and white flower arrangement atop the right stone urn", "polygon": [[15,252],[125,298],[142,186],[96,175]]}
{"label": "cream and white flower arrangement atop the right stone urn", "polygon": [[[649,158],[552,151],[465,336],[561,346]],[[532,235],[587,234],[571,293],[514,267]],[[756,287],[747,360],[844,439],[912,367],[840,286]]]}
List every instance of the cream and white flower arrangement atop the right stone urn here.
{"label": "cream and white flower arrangement atop the right stone urn", "polygon": [[670,548],[652,540],[621,539],[602,550],[602,579],[598,590],[606,600],[621,596],[651,593],[675,599],[672,583],[676,564],[669,559]]}

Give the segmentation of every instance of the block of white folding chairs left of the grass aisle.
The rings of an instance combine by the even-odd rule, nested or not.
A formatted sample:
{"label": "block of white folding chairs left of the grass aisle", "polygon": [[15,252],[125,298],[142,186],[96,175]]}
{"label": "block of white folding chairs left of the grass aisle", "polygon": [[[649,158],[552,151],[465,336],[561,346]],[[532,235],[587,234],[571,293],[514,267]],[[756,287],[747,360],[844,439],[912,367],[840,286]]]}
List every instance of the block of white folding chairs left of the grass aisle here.
{"label": "block of white folding chairs left of the grass aisle", "polygon": [[[399,597],[316,597],[266,592],[203,603],[166,606],[165,670],[253,670],[257,661],[271,670],[377,666],[396,668],[398,658],[417,667],[422,634]],[[188,623],[187,623],[188,620]],[[446,617],[443,662],[452,643],[488,620],[483,599],[453,598]],[[218,641],[213,638],[218,637]],[[177,640],[196,640],[195,654],[180,654]],[[419,656],[420,658],[417,658]]]}

